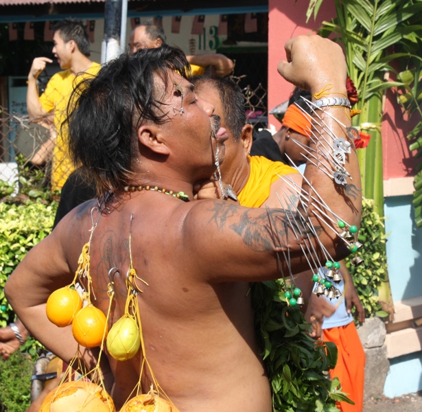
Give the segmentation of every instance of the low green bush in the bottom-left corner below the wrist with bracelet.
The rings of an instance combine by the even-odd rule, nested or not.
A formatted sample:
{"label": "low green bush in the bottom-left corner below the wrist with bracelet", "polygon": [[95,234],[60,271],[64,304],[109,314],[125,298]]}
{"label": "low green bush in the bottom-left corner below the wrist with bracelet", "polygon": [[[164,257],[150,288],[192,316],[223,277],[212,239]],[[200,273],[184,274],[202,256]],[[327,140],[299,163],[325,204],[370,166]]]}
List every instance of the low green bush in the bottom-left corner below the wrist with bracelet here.
{"label": "low green bush in the bottom-left corner below the wrist with bracelet", "polygon": [[23,412],[30,406],[33,367],[32,358],[21,352],[0,362],[1,412]]}

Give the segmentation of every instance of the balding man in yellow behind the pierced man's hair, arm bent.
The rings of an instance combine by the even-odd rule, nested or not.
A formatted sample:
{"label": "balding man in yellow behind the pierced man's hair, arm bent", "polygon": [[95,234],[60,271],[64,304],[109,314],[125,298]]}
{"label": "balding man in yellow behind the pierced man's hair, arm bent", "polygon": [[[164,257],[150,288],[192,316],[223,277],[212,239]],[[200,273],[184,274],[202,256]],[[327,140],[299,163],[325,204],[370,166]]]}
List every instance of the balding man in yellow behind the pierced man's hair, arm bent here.
{"label": "balding man in yellow behind the pierced man's hair, arm bent", "polygon": [[[154,49],[165,44],[163,27],[155,24],[141,24],[132,30],[129,40],[130,53],[139,49]],[[206,67],[211,67],[212,74],[227,76],[235,68],[233,60],[224,54],[201,54],[200,56],[186,56],[191,66],[192,76],[202,76]]]}

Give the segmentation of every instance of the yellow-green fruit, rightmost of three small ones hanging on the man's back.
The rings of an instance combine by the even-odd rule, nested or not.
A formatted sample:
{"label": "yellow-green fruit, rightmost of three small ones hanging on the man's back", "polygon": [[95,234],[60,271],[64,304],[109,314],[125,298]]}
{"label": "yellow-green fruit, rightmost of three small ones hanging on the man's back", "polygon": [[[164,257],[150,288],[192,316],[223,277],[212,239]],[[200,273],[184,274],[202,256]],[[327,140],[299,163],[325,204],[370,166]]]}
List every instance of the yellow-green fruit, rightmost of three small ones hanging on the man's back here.
{"label": "yellow-green fruit, rightmost of three small ones hanging on the man's back", "polygon": [[139,350],[139,328],[131,317],[121,317],[107,335],[107,350],[117,361],[132,359]]}

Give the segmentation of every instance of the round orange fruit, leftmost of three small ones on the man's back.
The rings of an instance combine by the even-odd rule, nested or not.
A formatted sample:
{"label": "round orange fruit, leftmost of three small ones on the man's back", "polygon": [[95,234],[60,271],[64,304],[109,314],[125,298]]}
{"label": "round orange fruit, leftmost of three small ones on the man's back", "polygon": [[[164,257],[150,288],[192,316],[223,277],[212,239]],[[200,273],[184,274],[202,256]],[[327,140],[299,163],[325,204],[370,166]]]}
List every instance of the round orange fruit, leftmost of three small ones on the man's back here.
{"label": "round orange fruit, leftmost of three small ones on the man's back", "polygon": [[45,308],[49,321],[59,328],[70,325],[80,309],[82,309],[82,299],[76,290],[68,287],[54,290]]}

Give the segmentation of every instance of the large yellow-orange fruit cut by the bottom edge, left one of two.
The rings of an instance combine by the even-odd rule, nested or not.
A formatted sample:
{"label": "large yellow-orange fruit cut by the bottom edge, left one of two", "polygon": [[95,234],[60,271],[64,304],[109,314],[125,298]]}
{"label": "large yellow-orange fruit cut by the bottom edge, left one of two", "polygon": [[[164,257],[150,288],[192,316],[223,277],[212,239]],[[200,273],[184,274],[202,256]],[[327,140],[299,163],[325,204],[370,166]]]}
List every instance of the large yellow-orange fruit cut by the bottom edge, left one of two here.
{"label": "large yellow-orange fruit cut by the bottom edge, left one of two", "polygon": [[102,387],[86,380],[65,382],[46,396],[38,412],[115,412]]}

